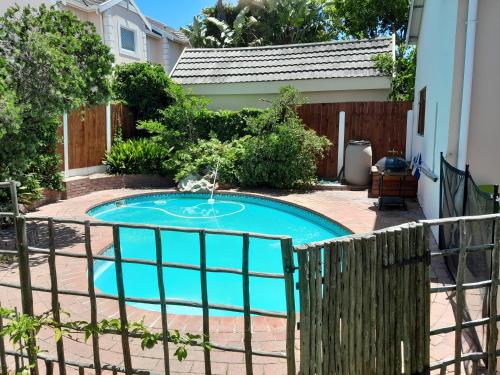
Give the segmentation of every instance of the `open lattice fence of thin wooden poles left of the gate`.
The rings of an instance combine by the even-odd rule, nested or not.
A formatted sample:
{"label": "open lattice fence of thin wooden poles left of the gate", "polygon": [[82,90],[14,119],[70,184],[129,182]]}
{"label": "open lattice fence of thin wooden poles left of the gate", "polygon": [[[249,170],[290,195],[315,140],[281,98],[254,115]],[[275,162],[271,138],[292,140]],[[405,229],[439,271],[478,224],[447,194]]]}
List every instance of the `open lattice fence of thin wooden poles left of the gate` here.
{"label": "open lattice fence of thin wooden poles left of the gate", "polygon": [[[0,185],[0,187],[12,187],[13,184],[4,184]],[[63,314],[59,314],[59,306],[60,301],[64,300],[68,303],[68,298],[84,298],[89,300],[89,308],[90,308],[90,325],[96,326],[98,324],[97,315],[98,315],[98,301],[103,300],[112,300],[118,303],[118,317],[120,321],[120,328],[107,329],[106,334],[116,335],[121,339],[121,353],[123,355],[122,358],[116,358],[117,363],[123,363],[123,367],[117,366],[116,363],[104,363],[104,360],[101,356],[103,353],[103,348],[100,347],[99,336],[92,332],[91,343],[89,345],[92,349],[91,359],[87,362],[85,361],[74,361],[68,359],[69,354],[75,355],[74,352],[65,352],[66,346],[64,343],[65,340],[60,340],[56,344],[56,352],[57,357],[49,356],[48,354],[37,353],[36,351],[30,350],[30,348],[35,348],[36,342],[35,337],[28,340],[28,347],[20,353],[14,350],[6,350],[4,345],[4,340],[0,337],[0,366],[5,369],[7,367],[6,356],[13,356],[16,358],[16,368],[22,366],[19,365],[19,359],[21,362],[24,357],[28,358],[29,363],[36,364],[38,362],[38,366],[35,366],[31,369],[31,374],[38,374],[38,369],[40,364],[45,364],[45,373],[52,373],[54,368],[54,363],[59,365],[59,373],[63,374],[66,371],[66,367],[78,368],[80,373],[83,373],[84,369],[92,369],[96,374],[102,373],[104,370],[112,370],[113,373],[123,372],[128,374],[148,374],[149,370],[139,369],[134,366],[134,358],[137,359],[137,356],[132,355],[132,351],[134,350],[134,342],[137,338],[140,338],[140,335],[134,331],[133,328],[129,327],[129,323],[133,319],[130,315],[130,311],[128,310],[127,303],[144,303],[144,304],[155,304],[159,305],[161,308],[160,316],[158,319],[161,320],[161,331],[158,331],[160,345],[162,348],[162,359],[163,359],[163,368],[162,371],[165,374],[169,374],[172,372],[170,368],[171,357],[169,358],[169,350],[168,343],[172,341],[172,338],[167,335],[167,306],[169,305],[177,305],[177,306],[186,306],[186,307],[195,307],[200,308],[202,310],[202,322],[203,322],[203,341],[210,342],[212,348],[214,350],[219,351],[228,351],[228,352],[237,352],[242,353],[246,359],[246,374],[253,374],[254,365],[255,365],[255,357],[271,357],[271,358],[280,358],[282,361],[286,363],[287,374],[292,375],[295,374],[295,301],[294,301],[294,258],[293,258],[293,246],[291,239],[286,236],[272,236],[258,233],[246,233],[246,232],[236,232],[236,231],[224,231],[224,230],[204,230],[204,229],[196,229],[196,228],[177,228],[177,227],[162,227],[162,226],[152,226],[152,225],[138,225],[138,224],[124,224],[124,223],[106,223],[106,222],[98,222],[98,221],[80,221],[80,220],[58,220],[47,217],[25,217],[22,215],[15,215],[12,213],[1,213],[0,218],[2,217],[10,217],[16,220],[16,229],[17,229],[17,239],[18,239],[18,248],[16,252],[10,251],[8,254],[16,256],[18,258],[19,264],[19,275],[20,281],[18,283],[9,283],[4,282],[3,280],[0,282],[0,286],[4,288],[11,288],[21,290],[22,295],[22,306],[23,313],[27,315],[34,315],[34,306],[39,306],[40,303],[43,304],[43,300],[40,300],[41,295],[47,296],[47,298],[51,297],[51,307],[52,314],[54,317],[54,321],[59,323],[63,319]],[[28,243],[27,240],[27,225],[26,223],[33,223],[42,228],[47,229],[48,233],[48,244],[41,245],[41,247],[32,246],[32,244]],[[71,225],[73,227],[78,227],[83,229],[83,240],[85,245],[85,251],[82,252],[74,252],[61,250],[57,248],[57,244],[55,241],[55,225]],[[91,238],[91,228],[94,229],[103,229],[108,228],[112,230],[112,238],[113,238],[113,254],[111,256],[108,255],[94,255],[92,251],[92,238]],[[153,259],[142,259],[142,258],[128,258],[125,253],[122,253],[122,236],[123,231],[126,230],[140,230],[146,232],[152,232],[155,238],[155,249],[154,250],[154,260]],[[162,233],[167,235],[168,233],[185,233],[191,234],[197,237],[197,242],[199,244],[200,251],[200,260],[199,264],[182,264],[182,263],[172,263],[166,262],[162,251],[165,249],[162,248]],[[206,235],[210,236],[231,236],[232,238],[241,239],[242,243],[242,269],[234,269],[234,268],[224,268],[224,267],[214,267],[207,266],[206,260]],[[278,247],[278,251],[280,251],[280,256],[283,260],[283,273],[269,273],[269,272],[257,272],[249,269],[250,257],[249,251],[251,250],[251,241],[277,241],[280,246]],[[3,252],[0,252],[0,255]],[[124,255],[125,254],[125,255]],[[34,256],[47,256],[48,257],[48,277],[50,278],[50,287],[42,286],[40,283],[40,279],[37,279],[33,282],[30,278],[30,261],[33,260]],[[87,285],[84,287],[84,290],[81,289],[70,289],[66,287],[59,287],[59,285],[64,284],[64,280],[61,280],[61,275],[57,272],[57,260],[62,259],[71,259],[72,261],[84,261],[88,267],[88,272],[85,275],[84,279]],[[110,262],[115,267],[115,281],[116,281],[116,295],[114,294],[105,294],[101,292],[96,292],[94,285],[94,277],[95,277],[95,269],[94,269],[94,261],[105,261]],[[125,288],[125,284],[127,281],[127,271],[130,270],[130,265],[141,265],[141,266],[150,266],[155,268],[156,279],[158,283],[158,297],[157,298],[144,298],[144,297],[132,297],[127,295],[127,289]],[[183,300],[177,298],[169,298],[165,293],[164,287],[164,270],[169,268],[176,269],[185,269],[197,271],[200,274],[200,285],[202,289],[201,301],[196,300]],[[227,305],[220,303],[212,303],[209,299],[208,294],[208,285],[207,285],[207,274],[208,273],[226,273],[226,274],[236,274],[242,277],[242,293],[243,293],[243,306],[237,305]],[[129,274],[130,275],[130,274]],[[265,279],[280,279],[284,283],[284,290],[286,293],[286,312],[279,311],[271,311],[262,308],[254,308],[252,306],[252,299],[250,295],[250,280],[254,280],[254,278],[265,278]],[[153,287],[153,286],[152,286]],[[34,293],[36,293],[36,300],[34,301]],[[154,296],[153,296],[154,297]],[[49,298],[50,300],[50,298]],[[8,307],[8,306],[4,306]],[[64,308],[64,306],[62,306]],[[223,311],[231,311],[238,312],[243,315],[243,323],[244,323],[244,340],[243,345],[234,345],[234,346],[226,346],[225,344],[220,344],[217,342],[211,342],[210,340],[210,326],[209,326],[209,311],[211,309],[215,310],[223,310]],[[63,311],[63,310],[61,310]],[[116,312],[116,310],[115,310]],[[101,312],[102,313],[102,312]],[[252,332],[254,319],[253,316],[262,316],[262,317],[271,317],[278,319],[286,319],[286,347],[285,352],[281,351],[270,351],[270,350],[256,350],[253,348],[252,344]],[[64,315],[66,319],[66,315]],[[0,320],[0,327],[5,325],[5,321]],[[64,325],[64,321],[62,322]],[[72,326],[72,331],[77,331],[78,333],[82,333],[83,331],[78,331],[78,328]],[[259,345],[260,346],[260,345]],[[212,353],[208,348],[204,347],[204,368],[205,373],[210,374],[212,372]],[[107,356],[109,361],[109,356]],[[37,361],[38,359],[38,361]]]}

